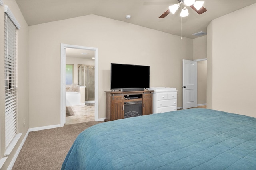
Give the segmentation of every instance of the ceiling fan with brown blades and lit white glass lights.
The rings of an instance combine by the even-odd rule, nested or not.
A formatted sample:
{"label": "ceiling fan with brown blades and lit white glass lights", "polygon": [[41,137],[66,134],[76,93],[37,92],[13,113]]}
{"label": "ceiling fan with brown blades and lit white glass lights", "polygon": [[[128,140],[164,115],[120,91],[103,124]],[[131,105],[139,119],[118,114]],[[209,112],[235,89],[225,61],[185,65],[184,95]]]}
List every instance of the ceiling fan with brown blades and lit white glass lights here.
{"label": "ceiling fan with brown blades and lit white glass lights", "polygon": [[[160,17],[158,18],[164,18],[166,17],[168,14],[170,14],[170,12],[172,14],[174,14],[178,8],[181,6],[182,10],[180,12],[180,16],[181,17],[186,17],[188,16],[188,9],[186,6],[190,6],[193,10],[195,10],[198,14],[202,14],[204,12],[206,12],[206,8],[203,7],[204,1],[196,1],[196,0],[178,0],[178,4],[174,4],[169,6],[169,9],[164,12],[164,14],[162,14]],[[183,5],[183,7],[182,7]]]}

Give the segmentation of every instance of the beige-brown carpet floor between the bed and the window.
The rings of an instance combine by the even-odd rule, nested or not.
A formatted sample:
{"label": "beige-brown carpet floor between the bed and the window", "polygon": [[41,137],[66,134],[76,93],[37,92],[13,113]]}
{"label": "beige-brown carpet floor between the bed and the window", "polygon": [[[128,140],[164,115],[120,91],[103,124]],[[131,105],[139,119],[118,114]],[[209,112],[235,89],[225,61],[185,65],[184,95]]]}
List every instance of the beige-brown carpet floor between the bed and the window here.
{"label": "beige-brown carpet floor between the bed and the window", "polygon": [[77,135],[102,122],[90,121],[30,132],[12,170],[60,170]]}

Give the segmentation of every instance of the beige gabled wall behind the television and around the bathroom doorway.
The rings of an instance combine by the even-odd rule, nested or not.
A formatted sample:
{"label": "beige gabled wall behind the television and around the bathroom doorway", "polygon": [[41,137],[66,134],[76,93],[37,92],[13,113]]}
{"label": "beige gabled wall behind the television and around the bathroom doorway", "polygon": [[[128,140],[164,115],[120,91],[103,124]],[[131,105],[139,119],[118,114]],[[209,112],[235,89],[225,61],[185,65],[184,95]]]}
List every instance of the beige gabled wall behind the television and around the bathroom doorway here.
{"label": "beige gabled wall behind the television and around the bathroom doorway", "polygon": [[30,127],[60,124],[61,43],[98,48],[99,118],[105,117],[110,63],[149,65],[150,86],[176,87],[182,106],[182,59],[193,59],[192,39],[88,15],[29,27]]}

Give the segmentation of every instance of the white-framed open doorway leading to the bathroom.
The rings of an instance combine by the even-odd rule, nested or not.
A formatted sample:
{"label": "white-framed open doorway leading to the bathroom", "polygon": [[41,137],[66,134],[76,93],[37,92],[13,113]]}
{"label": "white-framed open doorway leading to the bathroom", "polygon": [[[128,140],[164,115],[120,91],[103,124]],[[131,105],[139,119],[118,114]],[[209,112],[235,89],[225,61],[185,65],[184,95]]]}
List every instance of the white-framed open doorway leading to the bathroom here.
{"label": "white-framed open doorway leading to the bathroom", "polygon": [[61,44],[61,63],[61,125],[98,121],[98,49]]}

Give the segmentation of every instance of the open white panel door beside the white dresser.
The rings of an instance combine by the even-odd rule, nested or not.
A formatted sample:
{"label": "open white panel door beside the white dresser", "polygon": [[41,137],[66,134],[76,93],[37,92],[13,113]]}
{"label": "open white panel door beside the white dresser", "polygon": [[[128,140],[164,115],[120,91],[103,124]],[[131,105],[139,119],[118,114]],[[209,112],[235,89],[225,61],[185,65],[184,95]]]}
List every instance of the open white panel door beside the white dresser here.
{"label": "open white panel door beside the white dresser", "polygon": [[197,105],[197,62],[183,61],[182,109],[196,107]]}

